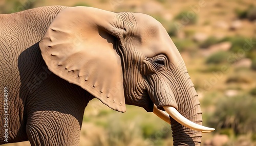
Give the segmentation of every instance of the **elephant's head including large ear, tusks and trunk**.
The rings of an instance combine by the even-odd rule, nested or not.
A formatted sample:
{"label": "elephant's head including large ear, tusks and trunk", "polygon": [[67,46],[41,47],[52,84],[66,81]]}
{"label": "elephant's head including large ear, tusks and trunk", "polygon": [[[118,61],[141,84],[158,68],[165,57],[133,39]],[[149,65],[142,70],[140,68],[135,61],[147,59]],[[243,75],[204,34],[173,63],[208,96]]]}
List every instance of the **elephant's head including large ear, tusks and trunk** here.
{"label": "elephant's head including large ear, tusks and trunk", "polygon": [[39,46],[54,74],[119,112],[125,112],[125,104],[153,111],[172,124],[177,144],[187,144],[189,137],[200,143],[199,131],[214,130],[202,126],[198,95],[184,61],[151,16],[67,8]]}

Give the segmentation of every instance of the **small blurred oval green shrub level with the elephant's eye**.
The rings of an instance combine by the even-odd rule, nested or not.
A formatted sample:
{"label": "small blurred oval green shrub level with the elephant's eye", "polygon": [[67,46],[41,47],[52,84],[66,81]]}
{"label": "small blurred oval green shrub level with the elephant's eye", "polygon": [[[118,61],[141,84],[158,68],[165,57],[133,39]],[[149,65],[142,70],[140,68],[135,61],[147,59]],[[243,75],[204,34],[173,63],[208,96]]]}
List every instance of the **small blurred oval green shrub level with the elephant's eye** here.
{"label": "small blurred oval green shrub level with the elephant's eye", "polygon": [[227,57],[229,56],[230,54],[228,52],[223,52],[223,51],[220,51],[220,52],[217,52],[215,54],[212,54],[211,56],[209,56],[207,59],[206,59],[206,63],[207,64],[220,64],[220,63],[225,63],[227,62]]}

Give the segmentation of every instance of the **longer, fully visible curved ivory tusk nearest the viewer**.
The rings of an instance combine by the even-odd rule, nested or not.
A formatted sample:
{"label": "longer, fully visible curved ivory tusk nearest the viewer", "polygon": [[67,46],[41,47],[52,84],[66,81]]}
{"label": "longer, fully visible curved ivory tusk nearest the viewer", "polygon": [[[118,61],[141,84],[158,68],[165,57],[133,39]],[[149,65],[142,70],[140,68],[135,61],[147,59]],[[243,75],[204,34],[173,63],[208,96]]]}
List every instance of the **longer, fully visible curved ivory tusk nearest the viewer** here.
{"label": "longer, fully visible curved ivory tusk nearest the viewer", "polygon": [[188,120],[187,118],[182,116],[174,107],[163,106],[163,108],[170,116],[172,116],[176,121],[178,121],[178,123],[190,129],[202,131],[203,133],[215,130],[214,128],[205,127]]}

